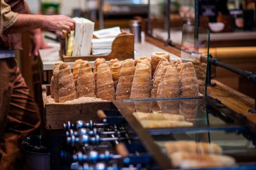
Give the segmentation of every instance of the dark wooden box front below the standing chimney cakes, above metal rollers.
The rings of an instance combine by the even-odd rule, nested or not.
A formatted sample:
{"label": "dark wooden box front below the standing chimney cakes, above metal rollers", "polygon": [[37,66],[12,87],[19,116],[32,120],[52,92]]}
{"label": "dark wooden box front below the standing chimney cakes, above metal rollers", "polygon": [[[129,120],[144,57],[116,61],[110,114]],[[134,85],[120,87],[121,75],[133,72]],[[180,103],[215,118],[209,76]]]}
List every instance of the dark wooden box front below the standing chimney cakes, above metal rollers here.
{"label": "dark wooden box front below the standing chimney cakes, above metal rollers", "polygon": [[42,85],[42,99],[44,102],[44,123],[47,130],[63,129],[63,123],[77,120],[99,120],[98,110],[111,110],[115,108],[111,101],[88,103],[47,103],[46,97],[51,94],[50,85]]}

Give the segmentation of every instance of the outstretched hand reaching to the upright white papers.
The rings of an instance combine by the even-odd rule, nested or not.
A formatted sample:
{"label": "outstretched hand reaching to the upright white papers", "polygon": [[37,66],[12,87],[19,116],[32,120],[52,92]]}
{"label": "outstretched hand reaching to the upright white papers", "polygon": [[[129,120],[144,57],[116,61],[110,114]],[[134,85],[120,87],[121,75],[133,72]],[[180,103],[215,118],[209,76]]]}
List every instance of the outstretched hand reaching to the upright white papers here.
{"label": "outstretched hand reaching to the upright white papers", "polygon": [[46,30],[66,30],[70,32],[75,29],[75,21],[65,15],[45,15],[43,28]]}

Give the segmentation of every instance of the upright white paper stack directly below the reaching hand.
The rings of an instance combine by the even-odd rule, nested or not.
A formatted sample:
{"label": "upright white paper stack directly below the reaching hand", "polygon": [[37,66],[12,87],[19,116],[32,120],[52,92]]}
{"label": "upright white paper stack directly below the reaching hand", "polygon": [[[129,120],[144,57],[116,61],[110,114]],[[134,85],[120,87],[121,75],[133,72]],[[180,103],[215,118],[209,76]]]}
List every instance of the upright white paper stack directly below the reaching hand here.
{"label": "upright white paper stack directly below the reaching hand", "polygon": [[82,17],[74,17],[75,40],[72,56],[88,56],[92,48],[94,22]]}

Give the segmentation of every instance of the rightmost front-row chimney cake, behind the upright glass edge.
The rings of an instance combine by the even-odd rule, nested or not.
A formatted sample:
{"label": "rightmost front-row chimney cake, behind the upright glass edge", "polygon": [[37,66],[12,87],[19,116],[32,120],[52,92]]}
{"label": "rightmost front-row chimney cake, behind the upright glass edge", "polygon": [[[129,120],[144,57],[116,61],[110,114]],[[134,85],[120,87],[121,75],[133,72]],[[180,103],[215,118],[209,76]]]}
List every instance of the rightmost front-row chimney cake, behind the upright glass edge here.
{"label": "rightmost front-row chimney cake, behind the upright glass edge", "polygon": [[192,62],[185,62],[179,73],[182,97],[196,97],[199,95],[197,75]]}

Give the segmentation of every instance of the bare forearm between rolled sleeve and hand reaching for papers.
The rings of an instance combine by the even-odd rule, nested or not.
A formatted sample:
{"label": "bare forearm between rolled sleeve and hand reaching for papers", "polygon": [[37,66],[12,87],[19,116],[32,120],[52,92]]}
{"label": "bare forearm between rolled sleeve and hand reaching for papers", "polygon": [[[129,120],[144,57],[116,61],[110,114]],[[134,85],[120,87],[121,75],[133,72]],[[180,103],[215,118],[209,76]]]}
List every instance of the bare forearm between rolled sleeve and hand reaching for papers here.
{"label": "bare forearm between rolled sleeve and hand reaching for papers", "polygon": [[44,15],[31,15],[31,14],[18,14],[18,20],[4,31],[4,34],[11,34],[15,32],[23,32],[27,30],[33,30],[36,28],[44,27]]}

